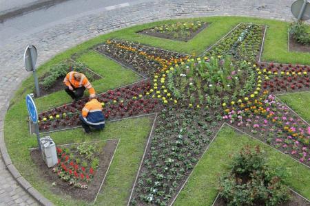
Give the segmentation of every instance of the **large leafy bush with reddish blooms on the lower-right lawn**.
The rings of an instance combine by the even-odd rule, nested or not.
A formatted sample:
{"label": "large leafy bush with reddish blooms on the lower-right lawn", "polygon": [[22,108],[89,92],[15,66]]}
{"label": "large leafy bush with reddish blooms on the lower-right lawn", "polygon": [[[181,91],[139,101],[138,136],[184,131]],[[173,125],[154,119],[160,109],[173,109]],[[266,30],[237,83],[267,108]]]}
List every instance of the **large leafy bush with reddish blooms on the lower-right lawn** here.
{"label": "large leafy bush with reddish blooms on the lower-right lawn", "polygon": [[279,205],[289,200],[283,168],[271,169],[259,146],[245,146],[234,156],[230,174],[220,178],[220,196],[227,205]]}

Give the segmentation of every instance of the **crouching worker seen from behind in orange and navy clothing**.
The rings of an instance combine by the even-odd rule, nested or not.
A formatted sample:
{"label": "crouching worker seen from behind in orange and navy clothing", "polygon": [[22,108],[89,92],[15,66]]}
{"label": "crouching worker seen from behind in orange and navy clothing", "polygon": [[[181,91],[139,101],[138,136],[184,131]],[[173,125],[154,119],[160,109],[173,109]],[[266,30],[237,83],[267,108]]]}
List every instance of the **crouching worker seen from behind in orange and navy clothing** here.
{"label": "crouching worker seen from behind in orange and navy clothing", "polygon": [[102,130],[105,127],[105,116],[102,113],[101,103],[96,95],[90,95],[90,102],[87,102],[79,116],[85,133],[90,133],[90,127]]}

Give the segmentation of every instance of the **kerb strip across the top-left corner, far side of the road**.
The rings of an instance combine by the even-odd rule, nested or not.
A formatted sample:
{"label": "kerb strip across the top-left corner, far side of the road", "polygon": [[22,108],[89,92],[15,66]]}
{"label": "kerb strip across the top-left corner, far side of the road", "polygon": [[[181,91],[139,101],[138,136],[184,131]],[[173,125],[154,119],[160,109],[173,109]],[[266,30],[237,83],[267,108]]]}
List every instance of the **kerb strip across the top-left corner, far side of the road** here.
{"label": "kerb strip across the top-left corner, far side of the road", "polygon": [[22,14],[31,12],[33,10],[39,10],[41,8],[46,8],[46,7],[55,5],[56,3],[61,3],[63,1],[68,1],[68,0],[38,0],[38,1],[34,1],[33,3],[22,5],[20,8],[17,7],[17,8],[12,8],[10,10],[5,10],[3,12],[0,12],[0,23],[12,17],[20,16]]}

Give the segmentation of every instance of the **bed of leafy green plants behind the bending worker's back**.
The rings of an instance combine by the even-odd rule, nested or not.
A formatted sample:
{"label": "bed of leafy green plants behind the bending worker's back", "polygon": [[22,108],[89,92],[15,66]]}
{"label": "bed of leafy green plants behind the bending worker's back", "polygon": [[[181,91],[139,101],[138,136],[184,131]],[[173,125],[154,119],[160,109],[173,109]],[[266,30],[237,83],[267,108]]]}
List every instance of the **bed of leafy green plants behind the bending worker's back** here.
{"label": "bed of leafy green plants behind the bending worker's back", "polygon": [[[78,71],[84,73],[90,80],[99,80],[102,77],[88,69],[86,65],[74,60],[65,60],[59,64],[53,65],[48,73],[39,78],[39,89],[41,95],[48,95],[55,91],[64,89],[63,79],[70,71]],[[35,93],[35,92],[34,92]]]}

